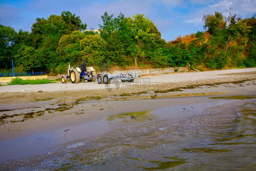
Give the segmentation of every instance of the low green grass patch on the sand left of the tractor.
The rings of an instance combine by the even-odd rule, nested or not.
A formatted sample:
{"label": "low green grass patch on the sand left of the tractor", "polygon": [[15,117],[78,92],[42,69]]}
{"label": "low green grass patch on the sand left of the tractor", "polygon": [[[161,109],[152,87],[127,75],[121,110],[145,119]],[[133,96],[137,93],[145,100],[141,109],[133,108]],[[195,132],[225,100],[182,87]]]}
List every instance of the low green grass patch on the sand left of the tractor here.
{"label": "low green grass patch on the sand left of the tractor", "polygon": [[26,85],[26,84],[49,84],[49,83],[56,83],[56,80],[49,80],[49,79],[42,79],[42,80],[22,80],[19,77],[13,78],[10,83],[7,85]]}

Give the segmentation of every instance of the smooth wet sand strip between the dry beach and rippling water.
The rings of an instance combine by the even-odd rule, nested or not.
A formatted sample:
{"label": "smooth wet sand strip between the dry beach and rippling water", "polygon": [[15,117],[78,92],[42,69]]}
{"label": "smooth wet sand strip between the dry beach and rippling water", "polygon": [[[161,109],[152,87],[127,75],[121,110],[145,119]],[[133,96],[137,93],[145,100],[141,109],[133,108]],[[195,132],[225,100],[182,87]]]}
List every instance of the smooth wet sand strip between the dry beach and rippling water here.
{"label": "smooth wet sand strip between the dry beach and rippling water", "polygon": [[[25,123],[20,122],[21,125],[15,123],[17,125],[11,126],[15,130],[1,134],[0,149],[2,155],[0,163],[4,164],[49,153],[55,151],[54,149],[58,146],[100,137],[118,128],[129,128],[130,126],[159,122],[165,119],[174,119],[177,122],[180,120],[181,122],[210,108],[229,103],[232,105],[233,102],[243,99],[248,101],[250,98],[256,98],[256,94],[111,101],[99,105],[85,114],[76,114],[76,118],[74,118],[74,113],[54,115],[51,121],[50,119],[47,121],[47,116],[32,118]],[[92,102],[91,104],[99,103]],[[79,105],[85,105],[85,103]],[[77,108],[84,107],[79,105]],[[130,112],[127,112],[125,106],[132,105],[133,108],[129,108]],[[132,119],[130,116],[135,116],[137,119]],[[26,127],[20,127],[24,124]],[[2,128],[0,130],[3,133]]]}

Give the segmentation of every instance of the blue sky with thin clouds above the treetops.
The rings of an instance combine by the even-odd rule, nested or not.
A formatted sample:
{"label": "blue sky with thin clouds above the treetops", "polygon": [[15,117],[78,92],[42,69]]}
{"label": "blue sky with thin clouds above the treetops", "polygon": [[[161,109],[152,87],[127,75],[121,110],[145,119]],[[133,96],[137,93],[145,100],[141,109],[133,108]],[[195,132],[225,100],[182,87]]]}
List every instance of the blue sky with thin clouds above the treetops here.
{"label": "blue sky with thin clouds above the treetops", "polygon": [[203,15],[215,11],[228,15],[226,10],[230,7],[233,13],[246,18],[256,13],[256,0],[0,0],[0,24],[16,31],[31,31],[36,18],[70,11],[80,16],[87,29],[96,29],[102,24],[105,11],[114,17],[120,12],[125,17],[139,13],[152,20],[168,42],[203,31]]}

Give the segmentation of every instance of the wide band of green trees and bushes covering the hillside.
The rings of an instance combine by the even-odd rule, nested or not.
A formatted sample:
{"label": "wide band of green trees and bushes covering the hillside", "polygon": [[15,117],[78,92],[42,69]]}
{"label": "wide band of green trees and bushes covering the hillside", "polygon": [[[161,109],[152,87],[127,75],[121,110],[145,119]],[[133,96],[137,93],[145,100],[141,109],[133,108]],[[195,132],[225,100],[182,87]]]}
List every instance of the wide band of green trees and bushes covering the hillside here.
{"label": "wide band of green trees and bushes covering the hillside", "polygon": [[[165,42],[157,26],[143,14],[114,18],[102,15],[100,34],[83,31],[79,16],[70,12],[37,18],[31,32],[16,32],[0,25],[0,70],[65,73],[68,63],[85,61],[96,69],[112,67],[174,67],[190,65],[199,70],[256,66],[256,15],[241,19],[230,9],[204,15],[205,32],[179,36]],[[16,71],[15,71],[16,72]]]}

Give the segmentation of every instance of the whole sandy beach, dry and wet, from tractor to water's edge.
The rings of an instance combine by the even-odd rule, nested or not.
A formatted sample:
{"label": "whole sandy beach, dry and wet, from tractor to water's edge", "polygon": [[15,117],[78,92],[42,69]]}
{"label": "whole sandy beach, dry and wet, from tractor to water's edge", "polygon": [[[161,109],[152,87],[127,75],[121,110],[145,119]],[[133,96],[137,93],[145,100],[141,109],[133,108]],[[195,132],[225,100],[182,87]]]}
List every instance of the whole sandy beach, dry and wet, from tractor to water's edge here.
{"label": "whole sandy beach, dry and wet, from tractor to water's edge", "polygon": [[[210,96],[255,97],[255,79],[256,68],[249,68],[142,75],[133,83],[113,81],[110,85],[81,82],[1,86],[0,163],[121,126],[170,117],[182,119],[230,102]],[[170,106],[175,109],[172,116],[111,120],[122,114],[136,118],[139,112]]]}

